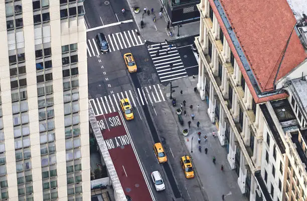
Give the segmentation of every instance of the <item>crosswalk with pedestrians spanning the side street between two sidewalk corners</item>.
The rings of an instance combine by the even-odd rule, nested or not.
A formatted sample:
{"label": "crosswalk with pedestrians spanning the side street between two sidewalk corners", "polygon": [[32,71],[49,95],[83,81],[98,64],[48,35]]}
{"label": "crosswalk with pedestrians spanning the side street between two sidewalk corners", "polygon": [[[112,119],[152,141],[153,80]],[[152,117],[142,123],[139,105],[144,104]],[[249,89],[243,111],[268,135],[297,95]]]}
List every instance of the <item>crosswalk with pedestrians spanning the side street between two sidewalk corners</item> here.
{"label": "crosswalk with pedestrians spanning the side street between two sidewalk corners", "polygon": [[[148,46],[148,52],[152,62],[154,62],[160,81],[167,82],[187,77],[188,74],[176,46],[172,45],[171,49],[167,51],[169,45],[167,43],[161,45],[162,49],[160,49],[160,44]],[[171,65],[173,66],[171,67]]]}

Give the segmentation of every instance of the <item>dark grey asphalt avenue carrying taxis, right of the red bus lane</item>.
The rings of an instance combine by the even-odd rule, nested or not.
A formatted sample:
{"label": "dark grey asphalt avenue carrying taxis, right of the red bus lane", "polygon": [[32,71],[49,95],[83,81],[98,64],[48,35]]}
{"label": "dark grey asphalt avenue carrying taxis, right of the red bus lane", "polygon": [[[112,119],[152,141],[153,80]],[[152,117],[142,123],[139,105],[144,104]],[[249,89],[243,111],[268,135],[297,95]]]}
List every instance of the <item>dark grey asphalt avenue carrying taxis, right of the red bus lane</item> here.
{"label": "dark grey asphalt avenue carrying taxis, right of the red bus lane", "polygon": [[[196,179],[190,179],[187,181],[189,185],[186,185],[187,179],[184,177],[178,158],[172,158],[173,152],[157,132],[152,115],[160,112],[155,110],[157,105],[165,106],[167,103],[165,102],[165,94],[162,94],[160,90],[159,77],[148,54],[147,46],[144,45],[141,36],[137,35],[134,21],[124,24],[118,23],[132,20],[132,15],[128,13],[128,5],[122,0],[109,2],[107,5],[93,0],[85,1],[84,7],[87,28],[100,27],[87,32],[88,90],[95,114],[118,111],[119,99],[128,97],[133,106],[134,120],[128,121],[126,124],[144,167],[145,177],[150,181],[150,172],[159,170],[166,183],[165,191],[156,192],[152,182],[149,182],[156,200],[173,201],[181,197],[188,200],[190,197],[189,188],[198,185],[198,182]],[[126,10],[124,16],[120,12],[122,8]],[[100,32],[105,34],[110,46],[111,52],[107,54],[99,53],[93,40]],[[192,62],[193,57],[195,60],[195,56],[189,47],[193,43],[191,39],[176,42],[180,44],[178,47],[186,46],[181,48],[179,52],[182,52],[183,56],[188,55],[187,60],[183,59],[188,67],[197,65]],[[133,74],[128,73],[123,61],[123,55],[129,52],[134,56],[138,67],[138,71]],[[159,141],[166,145],[166,152],[170,159],[168,163],[163,165],[157,162],[152,147],[155,142]],[[181,147],[178,145],[172,149],[179,151]],[[176,173],[174,174],[174,172]]]}

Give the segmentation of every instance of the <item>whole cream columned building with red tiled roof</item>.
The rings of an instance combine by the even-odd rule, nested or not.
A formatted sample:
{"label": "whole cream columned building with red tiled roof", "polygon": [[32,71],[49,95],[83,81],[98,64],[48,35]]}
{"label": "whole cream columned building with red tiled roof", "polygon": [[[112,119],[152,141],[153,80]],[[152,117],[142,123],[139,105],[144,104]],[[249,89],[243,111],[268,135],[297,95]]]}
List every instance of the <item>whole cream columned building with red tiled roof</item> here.
{"label": "whole cream columned building with red tiled roof", "polygon": [[[275,182],[279,178],[283,186],[286,180],[275,174],[286,165],[284,134],[279,136],[284,125],[271,105],[287,105],[288,80],[307,75],[305,25],[296,23],[286,0],[202,0],[198,9],[197,88],[241,192],[252,201],[284,200],[285,189]],[[294,121],[284,115],[285,122]]]}

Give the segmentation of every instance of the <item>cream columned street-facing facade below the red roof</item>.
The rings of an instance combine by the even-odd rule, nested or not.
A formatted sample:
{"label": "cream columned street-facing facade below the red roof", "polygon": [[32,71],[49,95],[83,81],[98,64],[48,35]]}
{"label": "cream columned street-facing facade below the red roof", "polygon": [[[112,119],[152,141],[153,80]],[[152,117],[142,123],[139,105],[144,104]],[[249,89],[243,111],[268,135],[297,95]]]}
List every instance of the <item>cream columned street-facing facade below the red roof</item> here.
{"label": "cream columned street-facing facade below the red roof", "polygon": [[[201,14],[200,36],[195,38],[195,44],[199,52],[197,88],[200,96],[209,106],[208,115],[216,125],[220,143],[226,149],[228,162],[236,171],[238,185],[247,199],[295,200],[284,198],[284,168],[289,148],[286,140],[278,136],[284,136],[285,132],[281,130],[276,133],[276,126],[272,127],[265,118],[271,112],[267,113],[261,106],[270,104],[269,101],[275,97],[285,98],[286,95],[281,94],[283,91],[274,92],[271,97],[263,95],[264,99],[255,101],[254,92],[250,91],[251,85],[247,84],[250,82],[246,82],[242,75],[247,73],[242,72],[238,65],[241,61],[236,59],[242,54],[236,53],[239,57],[235,57],[232,52],[235,49],[231,49],[228,43],[230,39],[232,42],[235,40],[226,37],[229,33],[223,32],[217,19],[216,15],[219,15],[222,26],[233,31],[227,27],[230,25],[227,20],[229,16],[222,8],[220,1],[202,0],[198,5]],[[236,42],[231,46],[236,47]],[[297,71],[299,74],[303,68]]]}

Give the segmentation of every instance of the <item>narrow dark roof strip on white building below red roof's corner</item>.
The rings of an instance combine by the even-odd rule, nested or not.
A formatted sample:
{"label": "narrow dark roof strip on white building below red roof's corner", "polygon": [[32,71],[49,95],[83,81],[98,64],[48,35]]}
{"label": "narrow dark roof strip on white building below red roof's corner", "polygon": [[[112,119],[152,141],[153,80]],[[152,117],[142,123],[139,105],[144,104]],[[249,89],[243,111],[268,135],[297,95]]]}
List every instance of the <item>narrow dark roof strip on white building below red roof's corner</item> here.
{"label": "narrow dark roof strip on white building below red roof's corner", "polygon": [[276,144],[277,144],[280,152],[282,154],[285,153],[284,144],[283,144],[283,142],[281,140],[281,137],[280,137],[280,135],[278,133],[278,130],[277,130],[277,128],[276,128],[276,126],[275,126],[275,124],[273,122],[273,119],[272,119],[272,117],[271,117],[271,115],[270,115],[266,105],[265,104],[260,104],[260,108],[261,108],[263,116],[264,116],[264,118],[265,118],[265,120],[266,120],[266,122],[267,122],[267,124],[268,124],[268,126],[269,126],[269,128],[270,128],[270,130],[272,132],[272,134],[273,134],[273,137],[274,137],[274,139],[276,141]]}

